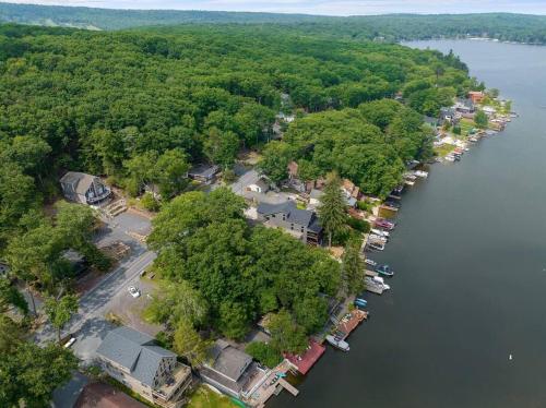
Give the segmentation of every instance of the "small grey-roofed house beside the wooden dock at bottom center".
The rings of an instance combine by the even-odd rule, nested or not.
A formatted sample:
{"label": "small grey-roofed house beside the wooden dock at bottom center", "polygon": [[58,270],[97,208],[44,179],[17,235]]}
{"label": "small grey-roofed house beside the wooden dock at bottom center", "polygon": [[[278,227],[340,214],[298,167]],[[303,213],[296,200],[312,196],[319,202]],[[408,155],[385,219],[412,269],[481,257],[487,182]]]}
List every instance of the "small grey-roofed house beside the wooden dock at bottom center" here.
{"label": "small grey-roofed house beside the wooden dock at bottom center", "polygon": [[209,360],[199,369],[201,379],[235,398],[248,398],[269,373],[253,362],[252,357],[222,339],[215,341],[209,355]]}

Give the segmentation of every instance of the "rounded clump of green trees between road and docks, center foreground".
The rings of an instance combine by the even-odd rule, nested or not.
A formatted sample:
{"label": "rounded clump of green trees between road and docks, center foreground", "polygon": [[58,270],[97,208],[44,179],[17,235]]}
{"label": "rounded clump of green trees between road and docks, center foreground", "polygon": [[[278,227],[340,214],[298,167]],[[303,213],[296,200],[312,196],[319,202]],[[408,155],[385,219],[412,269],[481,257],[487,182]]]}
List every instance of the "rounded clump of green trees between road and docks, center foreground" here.
{"label": "rounded clump of green trees between road and docks, center foreground", "polygon": [[320,295],[337,292],[337,262],[282,231],[249,227],[244,207],[240,197],[217,189],[182,194],[162,208],[149,242],[159,252],[156,269],[170,281],[158,300],[165,316],[188,315],[199,303],[176,300],[180,287],[209,304],[199,308],[206,319],[193,323],[207,321],[232,338],[244,337],[251,322],[281,308],[304,333],[320,328],[327,319]]}

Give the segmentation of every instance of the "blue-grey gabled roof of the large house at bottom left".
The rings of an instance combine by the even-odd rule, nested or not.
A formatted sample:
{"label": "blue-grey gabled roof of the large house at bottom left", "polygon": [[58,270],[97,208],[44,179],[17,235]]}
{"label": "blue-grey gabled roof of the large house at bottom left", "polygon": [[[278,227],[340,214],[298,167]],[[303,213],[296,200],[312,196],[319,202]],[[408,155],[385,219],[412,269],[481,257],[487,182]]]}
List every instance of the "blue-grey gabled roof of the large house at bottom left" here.
{"label": "blue-grey gabled roof of the large house at bottom left", "polygon": [[97,355],[124,367],[134,379],[150,386],[153,386],[162,360],[176,357],[174,352],[156,346],[149,335],[129,327],[118,327],[108,333]]}

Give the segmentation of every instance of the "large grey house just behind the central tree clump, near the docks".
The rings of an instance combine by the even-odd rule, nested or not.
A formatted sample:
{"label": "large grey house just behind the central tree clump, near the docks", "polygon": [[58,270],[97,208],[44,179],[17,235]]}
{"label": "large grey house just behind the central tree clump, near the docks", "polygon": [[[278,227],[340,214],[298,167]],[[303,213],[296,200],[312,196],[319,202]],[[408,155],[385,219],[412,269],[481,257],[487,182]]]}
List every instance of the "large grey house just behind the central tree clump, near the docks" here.
{"label": "large grey house just behind the central tree clump, near the docks", "polygon": [[283,228],[304,242],[320,244],[322,227],[317,214],[309,209],[299,209],[294,201],[281,204],[261,203],[257,213],[258,219],[265,226]]}

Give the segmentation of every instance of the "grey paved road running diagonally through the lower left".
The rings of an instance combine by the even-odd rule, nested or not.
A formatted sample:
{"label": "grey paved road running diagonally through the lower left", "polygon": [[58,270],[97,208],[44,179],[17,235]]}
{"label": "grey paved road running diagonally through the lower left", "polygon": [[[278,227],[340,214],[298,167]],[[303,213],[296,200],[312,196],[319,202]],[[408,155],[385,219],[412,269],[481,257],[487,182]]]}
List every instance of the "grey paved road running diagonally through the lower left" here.
{"label": "grey paved road running diagonally through the lower left", "polygon": [[[117,267],[95,288],[80,298],[80,309],[62,331],[62,335],[76,334],[74,352],[84,361],[90,361],[102,338],[111,325],[105,320],[104,313],[109,308],[110,300],[127,287],[155,260],[155,252],[144,250]],[[36,333],[36,341],[44,344],[55,340],[56,331],[46,324]]]}

